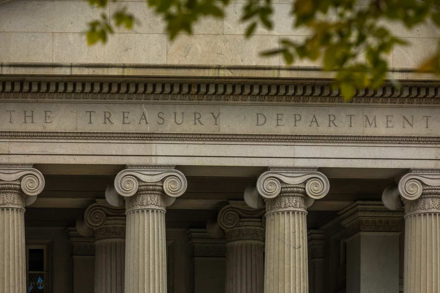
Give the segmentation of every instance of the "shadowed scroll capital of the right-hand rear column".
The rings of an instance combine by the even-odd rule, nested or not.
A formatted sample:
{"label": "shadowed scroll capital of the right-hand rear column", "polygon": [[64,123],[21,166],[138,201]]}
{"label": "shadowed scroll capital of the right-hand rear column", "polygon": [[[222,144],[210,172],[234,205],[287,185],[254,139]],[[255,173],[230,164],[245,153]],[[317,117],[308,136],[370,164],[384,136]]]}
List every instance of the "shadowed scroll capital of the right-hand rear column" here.
{"label": "shadowed scroll capital of the right-hand rear column", "polygon": [[230,201],[217,216],[217,222],[226,232],[228,242],[238,240],[264,241],[262,217],[264,208],[253,209],[242,201]]}

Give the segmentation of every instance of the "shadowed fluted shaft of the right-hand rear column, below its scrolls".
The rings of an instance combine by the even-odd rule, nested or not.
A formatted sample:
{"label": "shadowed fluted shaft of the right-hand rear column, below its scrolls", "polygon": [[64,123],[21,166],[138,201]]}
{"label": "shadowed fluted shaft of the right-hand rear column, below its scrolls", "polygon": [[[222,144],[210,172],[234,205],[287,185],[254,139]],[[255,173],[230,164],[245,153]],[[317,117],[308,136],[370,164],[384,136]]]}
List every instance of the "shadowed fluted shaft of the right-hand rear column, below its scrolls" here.
{"label": "shadowed fluted shaft of the right-hand rear column, below its scrolls", "polygon": [[263,293],[264,228],[261,219],[240,219],[226,231],[226,293]]}

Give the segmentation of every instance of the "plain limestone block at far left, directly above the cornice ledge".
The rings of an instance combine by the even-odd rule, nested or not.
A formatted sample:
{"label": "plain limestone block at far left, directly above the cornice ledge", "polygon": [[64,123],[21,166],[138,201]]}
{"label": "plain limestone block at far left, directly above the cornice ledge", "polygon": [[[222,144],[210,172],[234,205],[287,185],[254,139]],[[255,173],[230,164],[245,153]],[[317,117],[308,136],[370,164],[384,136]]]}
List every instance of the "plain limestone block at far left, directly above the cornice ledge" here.
{"label": "plain limestone block at far left, directly above the cornice ledge", "polygon": [[2,62],[52,62],[51,33],[0,33]]}

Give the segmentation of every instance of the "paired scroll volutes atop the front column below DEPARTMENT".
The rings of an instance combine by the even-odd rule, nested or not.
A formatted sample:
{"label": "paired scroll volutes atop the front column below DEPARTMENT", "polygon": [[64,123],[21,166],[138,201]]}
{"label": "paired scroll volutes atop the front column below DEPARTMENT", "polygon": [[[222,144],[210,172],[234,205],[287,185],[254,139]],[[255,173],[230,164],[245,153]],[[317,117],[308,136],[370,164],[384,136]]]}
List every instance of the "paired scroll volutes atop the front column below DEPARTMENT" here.
{"label": "paired scroll volutes atop the front column below DEPARTMENT", "polygon": [[257,180],[257,191],[266,199],[273,199],[283,185],[304,185],[305,194],[321,199],[328,192],[330,183],[316,167],[269,167]]}

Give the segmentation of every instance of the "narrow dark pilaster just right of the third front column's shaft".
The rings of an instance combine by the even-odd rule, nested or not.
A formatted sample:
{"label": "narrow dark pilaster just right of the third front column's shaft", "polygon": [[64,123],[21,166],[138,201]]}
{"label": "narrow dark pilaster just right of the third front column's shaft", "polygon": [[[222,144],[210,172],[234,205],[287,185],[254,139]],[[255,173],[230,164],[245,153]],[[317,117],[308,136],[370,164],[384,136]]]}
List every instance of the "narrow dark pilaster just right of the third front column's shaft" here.
{"label": "narrow dark pilaster just right of the third front column's shaft", "polygon": [[308,231],[308,284],[309,293],[324,293],[324,244],[325,231]]}

